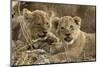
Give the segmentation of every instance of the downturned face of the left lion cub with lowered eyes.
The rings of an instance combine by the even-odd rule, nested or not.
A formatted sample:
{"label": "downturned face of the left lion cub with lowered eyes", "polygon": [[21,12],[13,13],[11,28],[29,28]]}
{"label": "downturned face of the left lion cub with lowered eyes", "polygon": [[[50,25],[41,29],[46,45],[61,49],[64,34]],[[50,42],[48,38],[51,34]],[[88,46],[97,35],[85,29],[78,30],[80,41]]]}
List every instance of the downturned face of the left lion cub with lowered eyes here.
{"label": "downturned face of the left lion cub with lowered eyes", "polygon": [[24,9],[23,14],[31,31],[32,39],[45,37],[49,28],[47,13],[42,10],[31,12]]}

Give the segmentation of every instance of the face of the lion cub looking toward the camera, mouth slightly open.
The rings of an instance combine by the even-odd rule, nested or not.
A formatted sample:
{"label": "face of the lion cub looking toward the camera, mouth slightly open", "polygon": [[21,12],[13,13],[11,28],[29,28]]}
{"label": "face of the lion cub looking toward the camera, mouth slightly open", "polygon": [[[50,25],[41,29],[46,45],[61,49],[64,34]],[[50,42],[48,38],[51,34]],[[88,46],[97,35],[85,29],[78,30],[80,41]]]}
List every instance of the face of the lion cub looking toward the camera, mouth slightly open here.
{"label": "face of the lion cub looking toward the camera, mouth slightly open", "polygon": [[78,37],[80,31],[79,17],[64,16],[59,19],[58,36],[66,44],[72,44]]}

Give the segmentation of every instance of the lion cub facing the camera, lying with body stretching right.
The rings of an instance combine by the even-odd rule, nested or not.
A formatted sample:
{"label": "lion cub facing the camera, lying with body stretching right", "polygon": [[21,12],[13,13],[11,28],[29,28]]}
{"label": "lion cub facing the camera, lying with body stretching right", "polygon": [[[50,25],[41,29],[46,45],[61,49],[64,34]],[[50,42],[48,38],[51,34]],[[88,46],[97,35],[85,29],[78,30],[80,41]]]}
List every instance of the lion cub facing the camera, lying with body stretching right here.
{"label": "lion cub facing the camera, lying with body stretching right", "polygon": [[62,42],[58,46],[63,46],[61,50],[65,51],[50,56],[51,62],[95,60],[95,34],[85,33],[80,30],[80,17],[64,16],[56,20],[56,23],[58,23],[56,35]]}

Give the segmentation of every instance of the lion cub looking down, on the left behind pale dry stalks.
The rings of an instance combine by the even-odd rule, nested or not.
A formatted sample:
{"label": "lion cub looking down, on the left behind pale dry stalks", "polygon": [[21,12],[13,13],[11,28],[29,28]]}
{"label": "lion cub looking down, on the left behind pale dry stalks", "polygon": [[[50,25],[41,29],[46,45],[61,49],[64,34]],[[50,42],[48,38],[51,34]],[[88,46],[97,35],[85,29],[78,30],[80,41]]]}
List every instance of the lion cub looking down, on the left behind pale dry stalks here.
{"label": "lion cub looking down, on the left behind pale dry stalks", "polygon": [[22,16],[12,19],[13,29],[20,26],[18,39],[30,42],[46,36],[49,28],[48,19],[48,14],[45,11],[23,9]]}

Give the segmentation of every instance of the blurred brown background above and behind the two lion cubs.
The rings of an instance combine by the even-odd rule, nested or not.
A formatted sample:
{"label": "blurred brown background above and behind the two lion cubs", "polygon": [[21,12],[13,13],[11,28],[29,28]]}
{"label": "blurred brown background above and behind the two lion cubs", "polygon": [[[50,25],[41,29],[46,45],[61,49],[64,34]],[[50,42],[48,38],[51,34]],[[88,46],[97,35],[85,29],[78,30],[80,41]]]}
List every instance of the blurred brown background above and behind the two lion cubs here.
{"label": "blurred brown background above and behind the two lion cubs", "polygon": [[72,4],[48,4],[36,2],[20,2],[20,10],[27,8],[33,10],[54,11],[56,16],[80,16],[82,18],[81,30],[89,33],[96,31],[96,6]]}

